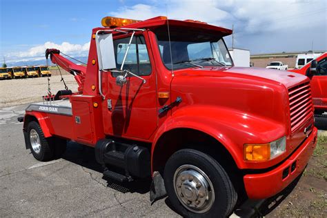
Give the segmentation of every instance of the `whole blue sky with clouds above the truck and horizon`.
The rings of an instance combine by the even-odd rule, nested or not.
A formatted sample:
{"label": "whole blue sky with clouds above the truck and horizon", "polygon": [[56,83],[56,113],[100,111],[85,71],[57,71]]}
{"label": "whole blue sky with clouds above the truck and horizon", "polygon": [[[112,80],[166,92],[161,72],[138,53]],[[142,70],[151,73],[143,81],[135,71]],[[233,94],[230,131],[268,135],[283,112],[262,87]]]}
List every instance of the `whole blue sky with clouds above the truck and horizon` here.
{"label": "whole blue sky with clouds above the truck and horizon", "polygon": [[[106,16],[193,19],[234,26],[234,47],[251,54],[327,50],[326,0],[0,0],[0,63],[43,60],[46,48],[87,57]],[[232,37],[226,37],[228,47]]]}

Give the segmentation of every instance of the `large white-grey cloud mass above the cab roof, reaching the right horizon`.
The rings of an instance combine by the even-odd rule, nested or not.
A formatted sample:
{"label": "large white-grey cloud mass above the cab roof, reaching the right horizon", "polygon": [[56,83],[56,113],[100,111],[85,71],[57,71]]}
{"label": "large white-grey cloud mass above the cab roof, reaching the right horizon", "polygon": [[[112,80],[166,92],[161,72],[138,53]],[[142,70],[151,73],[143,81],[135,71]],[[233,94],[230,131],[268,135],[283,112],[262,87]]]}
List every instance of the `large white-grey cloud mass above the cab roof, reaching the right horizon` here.
{"label": "large white-grey cloud mass above the cab roof, reaching the right horizon", "polygon": [[[301,41],[313,40],[318,50],[327,49],[326,0],[150,1],[108,14],[141,20],[168,14],[169,19],[194,19],[225,28],[234,25],[236,46],[255,51],[307,50]],[[267,46],[268,39],[271,44]]]}

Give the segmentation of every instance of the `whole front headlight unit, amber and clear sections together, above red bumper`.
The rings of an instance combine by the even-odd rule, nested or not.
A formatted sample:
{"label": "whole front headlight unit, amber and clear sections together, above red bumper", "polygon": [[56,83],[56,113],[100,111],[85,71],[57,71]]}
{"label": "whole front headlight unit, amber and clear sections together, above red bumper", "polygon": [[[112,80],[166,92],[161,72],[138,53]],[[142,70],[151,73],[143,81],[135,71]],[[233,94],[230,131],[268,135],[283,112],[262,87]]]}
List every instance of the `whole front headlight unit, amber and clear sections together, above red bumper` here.
{"label": "whole front headlight unit, amber and clear sections together, above red bumper", "polygon": [[263,144],[245,144],[244,159],[246,161],[269,161],[286,151],[286,137]]}

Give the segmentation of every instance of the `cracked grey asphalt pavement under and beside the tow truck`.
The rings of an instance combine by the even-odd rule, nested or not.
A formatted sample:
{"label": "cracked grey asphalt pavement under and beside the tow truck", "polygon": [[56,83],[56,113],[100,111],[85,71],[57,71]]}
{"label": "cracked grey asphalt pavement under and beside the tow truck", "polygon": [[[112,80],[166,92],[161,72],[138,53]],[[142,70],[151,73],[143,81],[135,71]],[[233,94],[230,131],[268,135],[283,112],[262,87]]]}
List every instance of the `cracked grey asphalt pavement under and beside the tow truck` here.
{"label": "cracked grey asphalt pavement under and beside the tow truck", "polygon": [[[25,108],[0,109],[0,217],[179,217],[168,198],[150,204],[149,179],[128,184],[103,179],[92,148],[68,143],[61,159],[34,159],[17,121]],[[237,215],[248,217],[257,204],[245,204]]]}

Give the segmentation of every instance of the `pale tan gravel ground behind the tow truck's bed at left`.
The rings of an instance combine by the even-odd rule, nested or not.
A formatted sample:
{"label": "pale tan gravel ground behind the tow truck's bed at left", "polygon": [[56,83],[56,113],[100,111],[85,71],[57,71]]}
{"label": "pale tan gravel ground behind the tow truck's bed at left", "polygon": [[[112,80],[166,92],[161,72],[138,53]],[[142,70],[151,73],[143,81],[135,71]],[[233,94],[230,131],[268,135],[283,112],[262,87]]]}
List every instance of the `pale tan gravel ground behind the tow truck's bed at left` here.
{"label": "pale tan gravel ground behind the tow truck's bed at left", "polygon": [[[42,101],[42,96],[48,93],[47,77],[10,79],[0,81],[0,108],[18,106],[33,101]],[[63,75],[68,88],[77,91],[77,83],[72,75]],[[63,90],[65,86],[60,76],[50,77],[52,94]]]}

